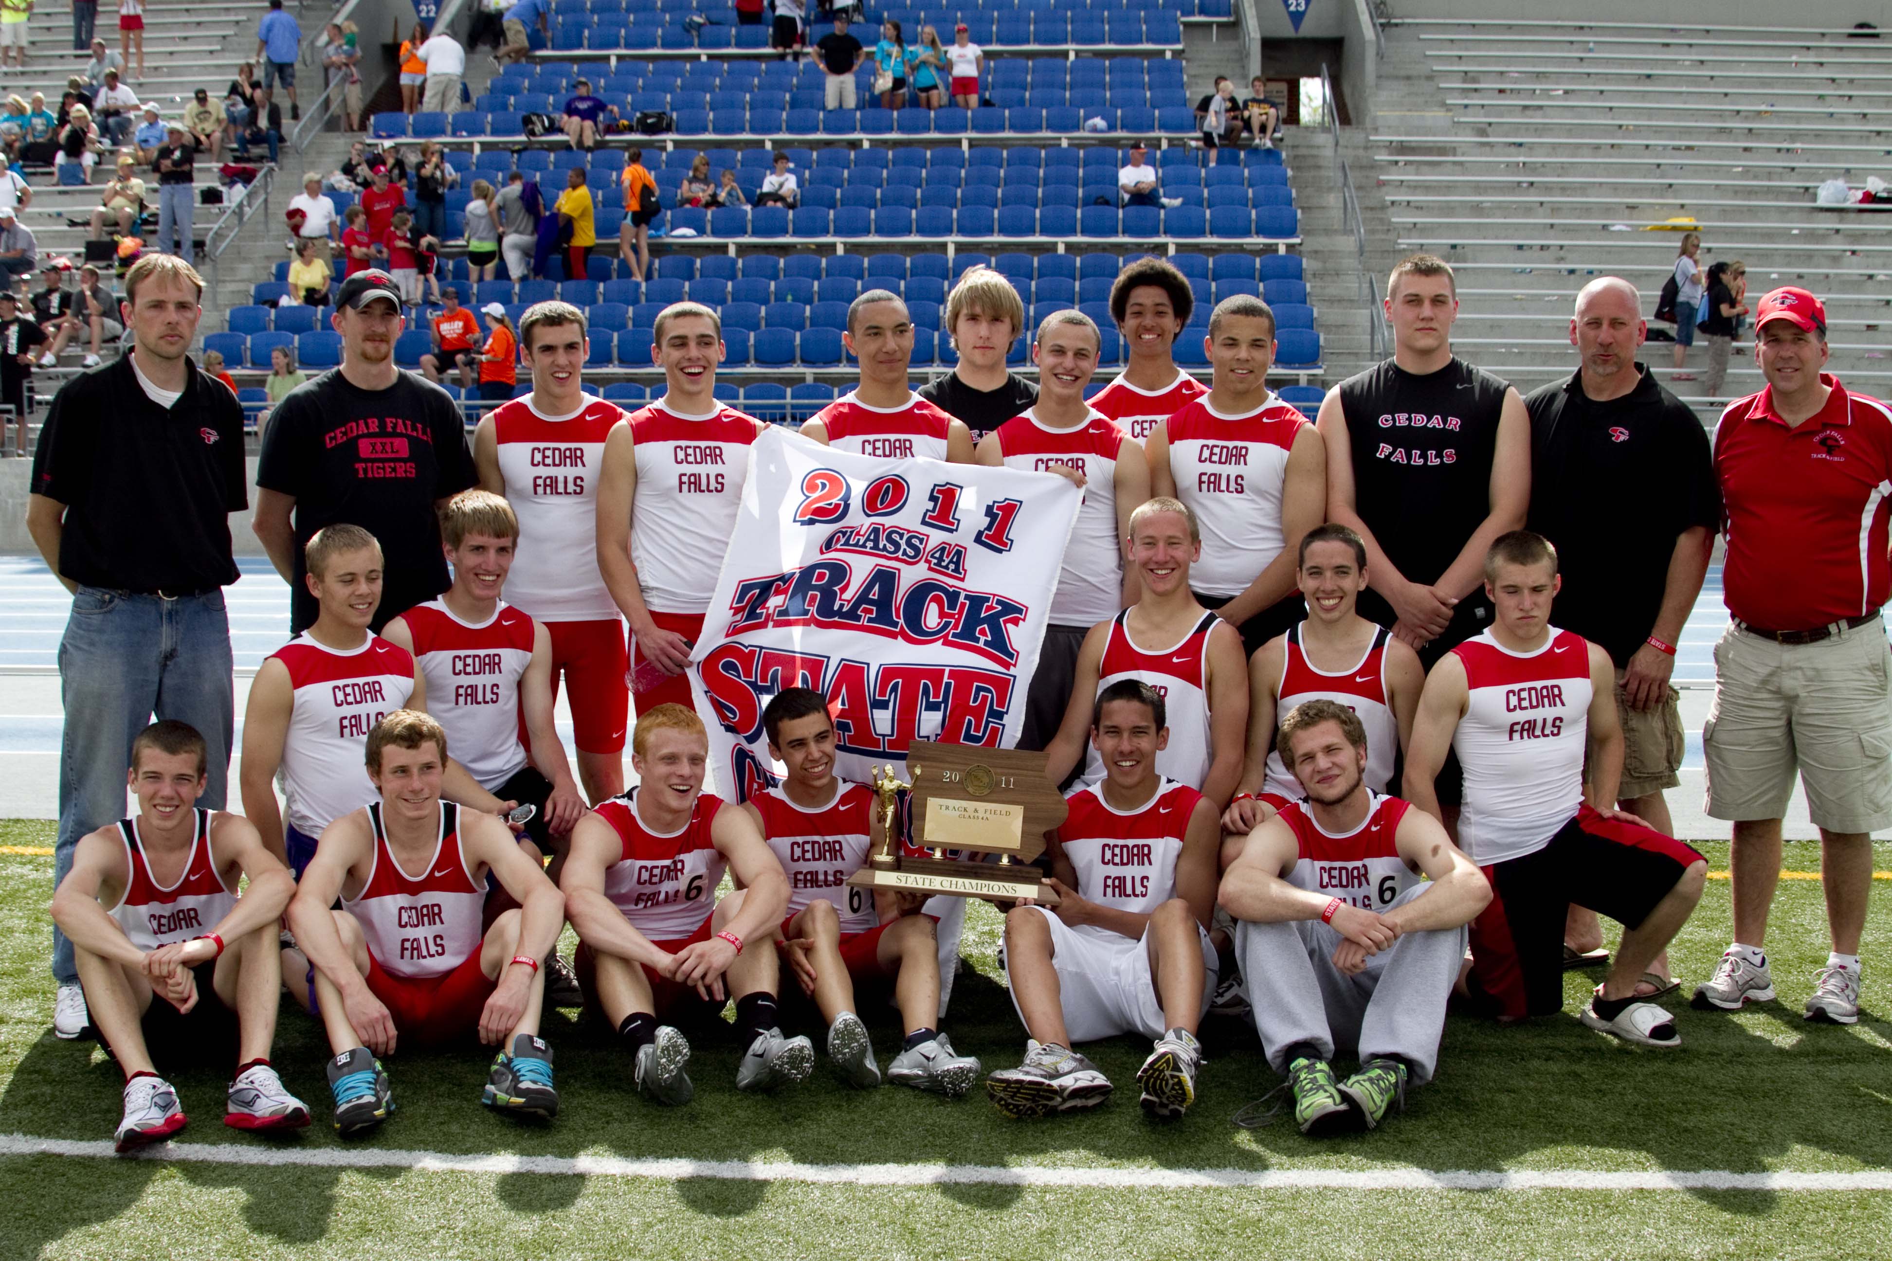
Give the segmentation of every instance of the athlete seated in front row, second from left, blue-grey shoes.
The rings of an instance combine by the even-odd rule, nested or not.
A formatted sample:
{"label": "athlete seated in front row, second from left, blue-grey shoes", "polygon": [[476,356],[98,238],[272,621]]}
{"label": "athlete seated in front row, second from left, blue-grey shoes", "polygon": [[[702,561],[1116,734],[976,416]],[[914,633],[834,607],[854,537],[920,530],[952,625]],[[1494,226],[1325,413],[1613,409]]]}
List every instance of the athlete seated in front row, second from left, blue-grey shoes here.
{"label": "athlete seated in front row, second from left, blue-grey shoes", "polygon": [[[327,1030],[342,1134],[394,1112],[378,1057],[475,1032],[501,1047],[481,1102],[558,1114],[539,968],[564,928],[564,900],[503,822],[441,800],[445,769],[439,722],[412,709],[377,722],[367,773],[380,800],[322,830],[289,902],[297,949],[284,951],[284,974]],[[482,934],[488,873],[518,909]]]}

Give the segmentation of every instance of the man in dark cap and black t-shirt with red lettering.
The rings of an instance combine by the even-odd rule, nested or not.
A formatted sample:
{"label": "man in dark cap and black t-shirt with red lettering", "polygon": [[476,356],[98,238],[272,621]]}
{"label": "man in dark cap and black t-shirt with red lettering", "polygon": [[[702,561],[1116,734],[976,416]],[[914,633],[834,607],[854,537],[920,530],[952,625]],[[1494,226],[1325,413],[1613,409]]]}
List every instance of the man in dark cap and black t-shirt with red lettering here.
{"label": "man in dark cap and black t-shirt with red lettering", "polygon": [[401,335],[394,276],[380,268],[350,276],[329,320],[342,335],[342,363],[271,412],[255,475],[255,537],[289,584],[289,631],[301,633],[316,620],[303,548],[335,522],[375,535],[386,561],[371,622],[380,633],[447,590],[437,512],[479,475],[452,397],[394,363]]}

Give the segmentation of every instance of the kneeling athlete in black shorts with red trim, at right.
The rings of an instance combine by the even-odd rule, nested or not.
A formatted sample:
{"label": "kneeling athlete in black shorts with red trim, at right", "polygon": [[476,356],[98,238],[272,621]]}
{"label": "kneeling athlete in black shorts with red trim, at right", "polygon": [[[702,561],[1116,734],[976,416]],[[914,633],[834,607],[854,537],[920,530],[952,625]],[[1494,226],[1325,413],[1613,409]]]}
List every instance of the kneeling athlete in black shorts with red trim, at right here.
{"label": "kneeling athlete in black shorts with red trim, at right", "polygon": [[[1610,974],[1584,1008],[1591,1028],[1682,1045],[1674,1019],[1637,981],[1682,928],[1707,881],[1691,847],[1616,809],[1623,732],[1616,667],[1582,635],[1550,624],[1557,550],[1514,529],[1485,554],[1495,620],[1427,675],[1406,756],[1406,798],[1438,817],[1445,752],[1464,766],[1459,843],[1491,881],[1472,921],[1474,998],[1500,1021],[1563,1008],[1563,928],[1572,902],[1623,924]],[[1589,800],[1584,758],[1589,751]]]}

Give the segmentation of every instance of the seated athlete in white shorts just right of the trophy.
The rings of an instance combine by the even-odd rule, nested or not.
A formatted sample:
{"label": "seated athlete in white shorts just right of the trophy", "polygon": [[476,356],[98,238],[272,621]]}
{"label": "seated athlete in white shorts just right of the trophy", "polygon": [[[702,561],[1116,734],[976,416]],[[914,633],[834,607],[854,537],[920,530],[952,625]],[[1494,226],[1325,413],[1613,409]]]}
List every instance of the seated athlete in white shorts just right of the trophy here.
{"label": "seated athlete in white shorts just right of the trophy", "polygon": [[1029,1034],[1025,1062],[986,1078],[1007,1115],[1101,1104],[1111,1081],[1071,1045],[1130,1032],[1156,1040],[1137,1070],[1143,1110],[1177,1117],[1196,1102],[1220,828],[1207,798],[1156,773],[1164,718],[1162,694],[1141,679],[1097,696],[1105,779],[1073,792],[1048,834],[1060,902],[1022,898],[1005,917],[1005,970]]}

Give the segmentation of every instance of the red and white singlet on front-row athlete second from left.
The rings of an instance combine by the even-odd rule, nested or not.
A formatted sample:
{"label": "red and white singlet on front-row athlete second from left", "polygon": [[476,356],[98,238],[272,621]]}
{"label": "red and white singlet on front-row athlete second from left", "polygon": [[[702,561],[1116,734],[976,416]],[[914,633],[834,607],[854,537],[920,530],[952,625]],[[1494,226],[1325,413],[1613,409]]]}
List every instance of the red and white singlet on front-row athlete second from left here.
{"label": "red and white singlet on front-row athlete second from left", "polygon": [[447,976],[464,964],[484,940],[481,915],[486,885],[473,879],[460,851],[460,807],[441,802],[441,836],[418,875],[409,875],[388,849],[380,802],[367,807],[375,826],[375,868],[342,909],[361,924],[367,953],[380,970],[401,977]]}

